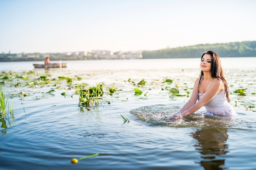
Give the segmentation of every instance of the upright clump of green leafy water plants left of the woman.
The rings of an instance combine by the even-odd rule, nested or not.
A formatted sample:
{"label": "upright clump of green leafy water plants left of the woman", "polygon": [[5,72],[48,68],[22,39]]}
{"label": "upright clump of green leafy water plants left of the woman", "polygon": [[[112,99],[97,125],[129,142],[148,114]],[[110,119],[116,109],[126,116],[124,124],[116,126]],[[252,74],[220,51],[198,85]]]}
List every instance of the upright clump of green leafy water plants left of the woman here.
{"label": "upright clump of green leafy water plants left of the woman", "polygon": [[89,87],[88,89],[81,89],[81,86],[77,85],[77,93],[79,95],[79,105],[85,105],[90,107],[95,103],[99,105],[99,96],[103,95],[103,85],[100,83],[96,87]]}

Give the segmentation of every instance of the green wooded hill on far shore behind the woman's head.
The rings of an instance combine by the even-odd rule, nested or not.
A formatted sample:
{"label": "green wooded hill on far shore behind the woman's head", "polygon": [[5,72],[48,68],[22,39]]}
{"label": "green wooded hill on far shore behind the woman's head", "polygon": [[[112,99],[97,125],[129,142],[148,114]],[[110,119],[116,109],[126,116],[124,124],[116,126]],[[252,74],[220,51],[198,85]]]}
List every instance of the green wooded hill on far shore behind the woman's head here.
{"label": "green wooded hill on far shore behind the woman's head", "polygon": [[256,41],[231,42],[221,44],[198,44],[155,51],[143,51],[143,59],[195,58],[207,50],[213,50],[220,57],[256,57]]}

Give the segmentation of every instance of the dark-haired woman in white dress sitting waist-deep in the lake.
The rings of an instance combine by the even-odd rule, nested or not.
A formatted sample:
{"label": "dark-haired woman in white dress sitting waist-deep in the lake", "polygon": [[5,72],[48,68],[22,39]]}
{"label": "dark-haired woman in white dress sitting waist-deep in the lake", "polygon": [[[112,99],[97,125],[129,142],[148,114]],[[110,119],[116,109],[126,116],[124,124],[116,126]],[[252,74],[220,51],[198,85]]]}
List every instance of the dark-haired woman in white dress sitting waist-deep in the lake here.
{"label": "dark-haired woman in white dress sitting waist-deep in the lake", "polygon": [[204,52],[200,68],[201,74],[195,81],[191,97],[175,113],[175,119],[189,116],[202,106],[206,108],[205,113],[211,116],[236,116],[236,111],[229,105],[228,85],[218,54],[211,50]]}

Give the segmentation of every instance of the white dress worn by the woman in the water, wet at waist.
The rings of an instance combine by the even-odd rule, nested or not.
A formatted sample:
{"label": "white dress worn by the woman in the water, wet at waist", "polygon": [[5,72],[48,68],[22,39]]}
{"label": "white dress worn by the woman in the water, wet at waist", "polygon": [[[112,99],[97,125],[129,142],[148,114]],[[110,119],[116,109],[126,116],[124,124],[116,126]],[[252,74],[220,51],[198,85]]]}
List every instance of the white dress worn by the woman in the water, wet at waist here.
{"label": "white dress worn by the woman in the water, wet at waist", "polygon": [[[205,94],[205,93],[204,93]],[[198,93],[198,101],[204,96]],[[211,101],[204,105],[207,115],[211,116],[236,116],[236,111],[227,102],[225,91],[220,91]]]}

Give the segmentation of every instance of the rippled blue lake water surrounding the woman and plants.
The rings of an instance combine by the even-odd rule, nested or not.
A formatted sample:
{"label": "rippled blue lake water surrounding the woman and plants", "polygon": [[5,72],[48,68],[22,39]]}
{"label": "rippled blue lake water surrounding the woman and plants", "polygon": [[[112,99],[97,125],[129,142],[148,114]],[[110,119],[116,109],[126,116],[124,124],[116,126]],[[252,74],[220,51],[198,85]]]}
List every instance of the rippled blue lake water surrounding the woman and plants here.
{"label": "rippled blue lake water surrounding the woman and plants", "polygon": [[[255,170],[256,57],[221,61],[238,116],[204,117],[201,108],[168,122],[189,100],[200,59],[62,61],[67,68],[49,70],[34,69],[35,62],[1,62],[1,76],[12,72],[0,77],[0,87],[14,113],[0,122],[0,170]],[[51,81],[28,85],[40,76]],[[144,87],[137,85],[142,79]],[[173,82],[163,83],[166,79]],[[103,84],[98,106],[78,105],[74,92],[81,83]],[[112,95],[111,87],[117,89]],[[168,92],[176,87],[181,96]],[[135,95],[134,88],[143,93]],[[237,89],[246,95],[233,93]]]}

